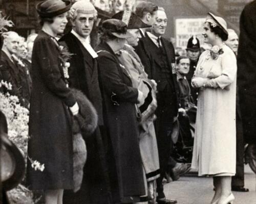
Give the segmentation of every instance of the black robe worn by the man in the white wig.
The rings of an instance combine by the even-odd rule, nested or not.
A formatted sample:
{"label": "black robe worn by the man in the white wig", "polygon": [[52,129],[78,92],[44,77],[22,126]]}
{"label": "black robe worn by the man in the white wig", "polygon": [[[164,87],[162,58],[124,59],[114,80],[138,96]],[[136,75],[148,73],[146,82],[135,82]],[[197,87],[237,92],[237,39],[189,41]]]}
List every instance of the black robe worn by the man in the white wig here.
{"label": "black robe worn by the man in the white wig", "polygon": [[94,105],[99,126],[95,133],[84,138],[87,145],[87,161],[83,170],[83,182],[80,190],[73,193],[67,190],[63,195],[64,204],[108,203],[110,200],[109,180],[105,152],[100,128],[102,122],[102,97],[98,82],[97,58],[92,58],[82,43],[71,32],[64,35],[60,43],[67,46],[73,54],[70,59],[69,85],[81,90]]}

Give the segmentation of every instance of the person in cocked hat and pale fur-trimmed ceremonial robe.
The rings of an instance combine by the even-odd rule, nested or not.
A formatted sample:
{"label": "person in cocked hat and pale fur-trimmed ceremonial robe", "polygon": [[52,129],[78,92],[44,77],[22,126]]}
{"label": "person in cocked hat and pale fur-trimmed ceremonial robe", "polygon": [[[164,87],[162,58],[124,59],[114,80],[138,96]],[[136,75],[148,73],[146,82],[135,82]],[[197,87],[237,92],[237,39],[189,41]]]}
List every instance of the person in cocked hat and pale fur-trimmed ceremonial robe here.
{"label": "person in cocked hat and pale fur-trimmed ceremonial robe", "polygon": [[[143,23],[140,18],[131,11],[121,11],[112,18],[120,19],[127,24],[127,31],[133,36],[127,38],[127,44],[117,54],[120,62],[129,71],[133,87],[138,88],[145,97],[145,103],[139,106],[141,111],[140,122],[140,153],[142,157],[148,192],[148,202],[155,203],[156,179],[160,176],[159,158],[154,127],[156,101],[156,82],[147,77],[144,66],[132,46],[137,46],[141,38],[140,30],[151,27]],[[141,201],[146,197],[142,197]]]}

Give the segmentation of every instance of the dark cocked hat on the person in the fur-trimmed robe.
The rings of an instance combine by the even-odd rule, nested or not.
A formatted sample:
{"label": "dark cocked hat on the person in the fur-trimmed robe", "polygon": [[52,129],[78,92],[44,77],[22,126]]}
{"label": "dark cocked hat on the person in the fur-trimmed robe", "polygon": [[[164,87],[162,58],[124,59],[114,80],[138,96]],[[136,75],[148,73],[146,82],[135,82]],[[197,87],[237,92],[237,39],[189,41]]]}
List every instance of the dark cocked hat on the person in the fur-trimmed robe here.
{"label": "dark cocked hat on the person in the fur-trimmed robe", "polygon": [[113,15],[112,18],[119,19],[125,22],[127,24],[127,29],[143,29],[151,27],[151,25],[144,23],[132,11],[120,11]]}

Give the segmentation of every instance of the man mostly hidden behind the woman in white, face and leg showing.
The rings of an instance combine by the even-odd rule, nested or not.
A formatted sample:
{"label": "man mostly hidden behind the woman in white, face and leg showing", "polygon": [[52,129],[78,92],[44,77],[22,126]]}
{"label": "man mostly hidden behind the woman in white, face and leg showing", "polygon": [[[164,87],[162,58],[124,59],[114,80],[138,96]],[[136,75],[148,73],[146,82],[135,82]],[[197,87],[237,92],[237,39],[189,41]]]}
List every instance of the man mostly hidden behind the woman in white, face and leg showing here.
{"label": "man mostly hidden behind the woman in white, face and leg showing", "polygon": [[[234,54],[238,53],[238,35],[232,29],[228,29],[228,39],[225,42]],[[237,86],[237,101],[236,101],[236,126],[237,126],[237,163],[236,175],[232,176],[231,187],[232,191],[248,192],[248,188],[244,188],[244,139],[243,139],[243,123],[241,118],[241,110],[239,106],[239,95]]]}

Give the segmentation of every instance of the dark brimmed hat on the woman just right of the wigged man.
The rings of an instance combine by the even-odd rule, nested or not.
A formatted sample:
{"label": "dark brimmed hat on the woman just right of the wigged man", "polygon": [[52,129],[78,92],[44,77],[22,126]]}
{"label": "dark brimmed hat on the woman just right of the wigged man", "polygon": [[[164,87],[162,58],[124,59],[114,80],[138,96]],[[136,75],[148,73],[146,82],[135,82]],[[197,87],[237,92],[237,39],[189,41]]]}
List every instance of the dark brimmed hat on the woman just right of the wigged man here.
{"label": "dark brimmed hat on the woman just right of the wigged man", "polygon": [[102,22],[102,29],[108,30],[112,35],[118,38],[130,38],[132,34],[127,32],[127,25],[118,19],[108,19]]}

